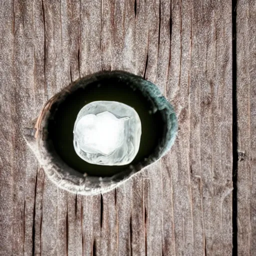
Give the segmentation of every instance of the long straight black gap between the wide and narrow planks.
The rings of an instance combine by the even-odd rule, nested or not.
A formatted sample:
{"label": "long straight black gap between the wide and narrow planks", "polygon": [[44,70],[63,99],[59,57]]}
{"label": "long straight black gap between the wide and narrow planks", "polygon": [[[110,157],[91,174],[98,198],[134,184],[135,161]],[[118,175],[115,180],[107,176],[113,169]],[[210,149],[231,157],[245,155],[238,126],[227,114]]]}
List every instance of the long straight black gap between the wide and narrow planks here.
{"label": "long straight black gap between the wide and narrow planks", "polygon": [[236,103],[236,0],[232,0],[232,255],[237,255],[237,103]]}

